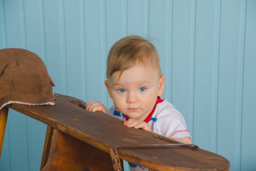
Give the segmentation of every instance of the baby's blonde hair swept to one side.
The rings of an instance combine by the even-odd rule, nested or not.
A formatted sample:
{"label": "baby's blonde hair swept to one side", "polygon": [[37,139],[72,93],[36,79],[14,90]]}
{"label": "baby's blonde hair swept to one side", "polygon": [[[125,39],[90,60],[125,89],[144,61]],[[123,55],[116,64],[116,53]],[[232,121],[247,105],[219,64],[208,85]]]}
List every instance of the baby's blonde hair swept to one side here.
{"label": "baby's blonde hair swept to one side", "polygon": [[116,71],[128,70],[136,64],[150,63],[162,76],[159,55],[155,46],[141,36],[126,36],[111,47],[107,59],[107,78]]}

